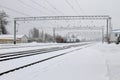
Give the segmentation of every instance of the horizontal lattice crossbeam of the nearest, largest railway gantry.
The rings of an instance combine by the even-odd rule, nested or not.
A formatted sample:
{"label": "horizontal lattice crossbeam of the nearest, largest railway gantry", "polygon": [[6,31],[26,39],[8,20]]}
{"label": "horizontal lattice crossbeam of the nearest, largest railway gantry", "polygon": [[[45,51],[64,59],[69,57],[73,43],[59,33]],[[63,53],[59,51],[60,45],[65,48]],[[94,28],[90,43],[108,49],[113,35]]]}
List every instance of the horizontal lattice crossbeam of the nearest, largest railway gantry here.
{"label": "horizontal lattice crossbeam of the nearest, largest railway gantry", "polygon": [[38,21],[38,20],[106,20],[111,19],[108,15],[87,15],[87,16],[43,16],[43,17],[18,17],[15,21]]}

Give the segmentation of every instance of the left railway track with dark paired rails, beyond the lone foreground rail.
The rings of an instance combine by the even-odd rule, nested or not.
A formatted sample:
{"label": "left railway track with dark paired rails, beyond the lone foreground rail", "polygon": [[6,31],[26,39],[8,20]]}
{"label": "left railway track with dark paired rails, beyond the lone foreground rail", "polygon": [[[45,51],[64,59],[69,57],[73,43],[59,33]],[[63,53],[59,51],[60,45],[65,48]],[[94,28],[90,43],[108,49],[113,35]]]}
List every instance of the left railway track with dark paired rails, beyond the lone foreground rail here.
{"label": "left railway track with dark paired rails, beyond the lone foreground rail", "polygon": [[63,49],[68,49],[68,48],[71,48],[71,47],[81,46],[81,45],[85,45],[85,44],[88,44],[88,43],[77,44],[77,45],[69,45],[69,46],[63,46],[63,47],[52,47],[52,48],[44,48],[44,49],[37,49],[37,50],[29,50],[29,51],[21,51],[21,52],[12,52],[12,53],[7,53],[7,54],[0,54],[0,62],[1,61],[6,61],[6,60],[11,60],[11,59],[16,59],[16,58],[32,56],[32,55],[44,54],[44,53],[63,50]]}

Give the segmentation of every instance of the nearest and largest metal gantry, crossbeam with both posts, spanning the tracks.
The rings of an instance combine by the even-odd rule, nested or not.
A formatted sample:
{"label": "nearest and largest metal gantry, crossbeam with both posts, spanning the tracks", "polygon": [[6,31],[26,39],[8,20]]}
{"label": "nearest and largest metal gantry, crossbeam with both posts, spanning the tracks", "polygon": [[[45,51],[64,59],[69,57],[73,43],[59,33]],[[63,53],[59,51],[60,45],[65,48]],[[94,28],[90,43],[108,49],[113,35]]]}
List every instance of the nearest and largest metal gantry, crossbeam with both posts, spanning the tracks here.
{"label": "nearest and largest metal gantry, crossbeam with both posts, spanning the tracks", "polygon": [[106,20],[106,39],[109,40],[111,17],[109,15],[83,15],[83,16],[41,16],[41,17],[17,17],[14,18],[14,44],[16,44],[17,21],[43,21],[43,20]]}

